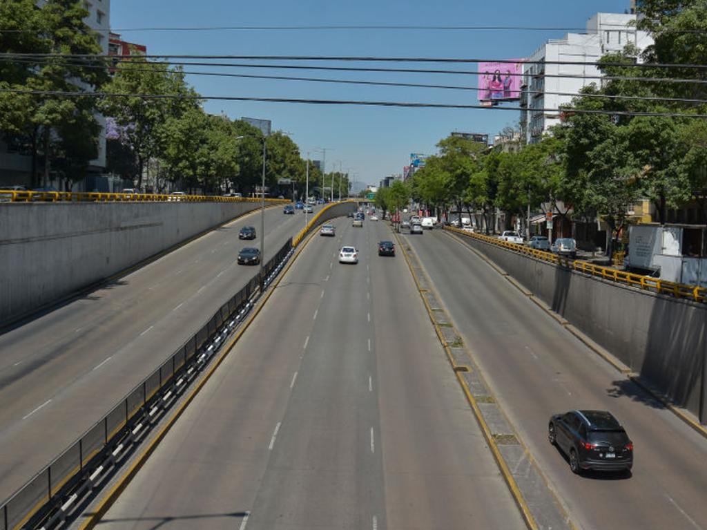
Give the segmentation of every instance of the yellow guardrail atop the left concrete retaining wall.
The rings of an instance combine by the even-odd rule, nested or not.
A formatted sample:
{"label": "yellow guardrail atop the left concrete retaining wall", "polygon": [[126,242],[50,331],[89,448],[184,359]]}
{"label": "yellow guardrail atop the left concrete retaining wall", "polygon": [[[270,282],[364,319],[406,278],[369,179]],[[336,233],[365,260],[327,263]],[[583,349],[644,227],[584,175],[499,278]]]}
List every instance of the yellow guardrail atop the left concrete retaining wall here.
{"label": "yellow guardrail atop the left concrete retaining wall", "polygon": [[[103,193],[0,190],[0,202],[260,202],[259,197],[168,195],[165,193]],[[290,202],[266,199],[269,204]]]}

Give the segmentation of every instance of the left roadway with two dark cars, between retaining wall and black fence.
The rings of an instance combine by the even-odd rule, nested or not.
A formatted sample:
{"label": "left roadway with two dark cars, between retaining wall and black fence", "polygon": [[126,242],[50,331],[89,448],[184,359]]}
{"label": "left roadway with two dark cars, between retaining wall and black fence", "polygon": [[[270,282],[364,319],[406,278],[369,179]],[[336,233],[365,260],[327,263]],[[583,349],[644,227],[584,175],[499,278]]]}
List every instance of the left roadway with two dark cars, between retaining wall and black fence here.
{"label": "left roadway with two dark cars, between retaining wall and black fence", "polygon": [[[239,241],[250,224],[254,241]],[[265,214],[265,260],[305,215]],[[0,499],[108,412],[257,273],[259,210],[0,335]],[[81,264],[77,263],[77,267]]]}

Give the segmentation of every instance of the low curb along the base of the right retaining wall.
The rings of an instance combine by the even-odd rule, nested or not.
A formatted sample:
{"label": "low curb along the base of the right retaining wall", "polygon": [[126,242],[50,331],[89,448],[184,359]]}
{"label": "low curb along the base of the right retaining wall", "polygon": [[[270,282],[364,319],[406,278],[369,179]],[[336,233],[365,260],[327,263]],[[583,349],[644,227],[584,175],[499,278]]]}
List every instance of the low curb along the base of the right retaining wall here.
{"label": "low curb along the base of the right retaining wall", "polygon": [[464,243],[460,239],[460,236],[457,236],[456,234],[449,234],[448,231],[444,231],[444,234],[446,234],[448,237],[452,238],[453,241],[456,241],[460,245],[464,246],[464,248],[467,248],[471,250],[474,254],[479,256],[481,260],[484,260],[487,265],[490,265],[493,270],[498,272],[500,275],[506,278],[510,284],[513,285],[516,289],[518,289],[520,292],[528,296],[530,300],[537,305],[540,309],[545,311],[549,316],[554,318],[554,320],[559,323],[563,328],[568,330],[569,333],[575,336],[575,338],[578,338],[580,342],[583,342],[585,346],[587,346],[592,352],[595,352],[595,354],[599,355],[604,361],[607,363],[611,364],[614,369],[619,371],[620,374],[626,376],[626,379],[629,379],[630,381],[633,381],[636,385],[641,387],[643,391],[648,393],[652,398],[654,398],[656,401],[662,403],[662,405],[665,406],[670,412],[672,412],[674,415],[679,417],[680,420],[682,420],[684,423],[686,423],[689,427],[691,427],[693,430],[695,430],[698,434],[701,434],[701,436],[707,438],[707,427],[704,425],[701,425],[698,420],[695,420],[693,417],[691,417],[688,413],[685,413],[684,410],[680,409],[679,407],[676,407],[673,405],[669,399],[665,398],[665,396],[662,396],[659,392],[655,391],[653,388],[650,387],[650,385],[646,384],[645,381],[641,379],[641,376],[636,374],[631,368],[626,366],[623,362],[619,361],[614,355],[612,355],[610,352],[604,349],[604,347],[600,346],[589,338],[587,335],[585,335],[582,331],[580,331],[578,328],[576,328],[573,324],[569,323],[565,318],[563,318],[561,315],[556,313],[555,311],[552,311],[550,307],[545,304],[542,300],[538,299],[537,296],[532,294],[532,292],[528,291],[525,289],[525,287],[522,287],[520,282],[518,280],[515,280],[515,278],[511,277],[508,272],[505,272],[501,267],[498,267],[496,263],[493,263],[490,258],[487,258],[486,255],[481,253],[479,250],[476,248],[472,248],[471,246],[467,245],[467,243]]}

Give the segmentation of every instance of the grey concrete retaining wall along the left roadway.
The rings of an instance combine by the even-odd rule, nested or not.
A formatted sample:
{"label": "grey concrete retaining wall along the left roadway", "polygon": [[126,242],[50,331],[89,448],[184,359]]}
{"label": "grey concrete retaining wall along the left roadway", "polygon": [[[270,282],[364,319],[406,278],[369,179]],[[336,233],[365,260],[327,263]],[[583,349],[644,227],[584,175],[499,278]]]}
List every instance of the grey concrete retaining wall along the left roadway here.
{"label": "grey concrete retaining wall along the left roadway", "polygon": [[0,204],[0,326],[258,207],[257,202]]}

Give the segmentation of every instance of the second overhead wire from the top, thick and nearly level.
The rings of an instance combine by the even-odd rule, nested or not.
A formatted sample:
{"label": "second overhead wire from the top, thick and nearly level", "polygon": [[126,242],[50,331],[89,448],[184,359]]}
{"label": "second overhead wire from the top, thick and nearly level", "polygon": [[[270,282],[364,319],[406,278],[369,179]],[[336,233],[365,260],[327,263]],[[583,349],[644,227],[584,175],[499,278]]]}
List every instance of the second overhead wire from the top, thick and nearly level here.
{"label": "second overhead wire from the top, thick and nearly level", "polygon": [[[55,53],[9,53],[9,57],[71,57],[76,59],[130,59],[135,55],[103,55],[103,54],[55,54]],[[337,61],[337,62],[440,62],[452,64],[467,64],[492,62],[499,64],[557,64],[571,66],[597,66],[597,67],[624,67],[624,68],[680,68],[680,69],[707,69],[707,64],[682,64],[682,63],[626,63],[626,62],[600,62],[600,61],[532,61],[529,59],[462,59],[453,57],[351,57],[337,55],[174,55],[174,54],[144,54],[139,57],[145,59],[212,59],[212,60],[257,60],[257,61]]]}

